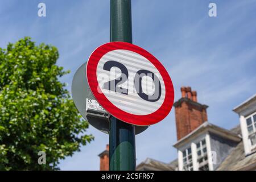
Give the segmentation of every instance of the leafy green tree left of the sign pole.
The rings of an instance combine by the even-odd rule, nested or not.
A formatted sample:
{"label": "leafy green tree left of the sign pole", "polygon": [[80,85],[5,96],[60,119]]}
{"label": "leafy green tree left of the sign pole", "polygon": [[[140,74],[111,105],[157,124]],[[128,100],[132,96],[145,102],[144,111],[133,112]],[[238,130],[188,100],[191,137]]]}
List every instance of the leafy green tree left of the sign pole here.
{"label": "leafy green tree left of the sign pole", "polygon": [[[57,48],[30,38],[0,48],[0,169],[59,169],[60,159],[93,140],[56,65]],[[39,151],[46,164],[39,165]]]}

